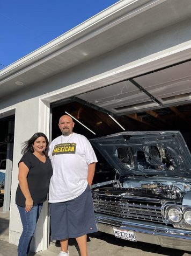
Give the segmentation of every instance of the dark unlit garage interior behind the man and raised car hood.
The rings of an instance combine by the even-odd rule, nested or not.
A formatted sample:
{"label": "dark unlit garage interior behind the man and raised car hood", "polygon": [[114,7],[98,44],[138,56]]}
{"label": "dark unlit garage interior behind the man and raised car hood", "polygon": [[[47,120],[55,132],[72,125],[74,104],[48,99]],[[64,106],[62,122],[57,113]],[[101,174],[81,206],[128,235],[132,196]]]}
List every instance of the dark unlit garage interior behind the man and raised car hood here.
{"label": "dark unlit garage interior behind the man and raised car hood", "polygon": [[[122,128],[108,116],[108,114],[96,110],[87,105],[83,105],[72,99],[67,103],[57,103],[58,106],[52,108],[52,139],[61,135],[58,128],[58,120],[65,112],[71,114],[77,120],[85,124],[96,135],[88,129],[75,122],[74,132],[83,134],[87,139],[104,135],[124,132]],[[191,117],[191,105],[172,106],[169,108],[148,110],[145,112],[115,116],[115,119],[124,127],[126,131],[151,131],[151,130],[180,130],[189,149],[191,149],[191,127],[189,119]],[[115,171],[106,160],[96,151],[98,163],[93,183],[104,182],[114,179]]]}

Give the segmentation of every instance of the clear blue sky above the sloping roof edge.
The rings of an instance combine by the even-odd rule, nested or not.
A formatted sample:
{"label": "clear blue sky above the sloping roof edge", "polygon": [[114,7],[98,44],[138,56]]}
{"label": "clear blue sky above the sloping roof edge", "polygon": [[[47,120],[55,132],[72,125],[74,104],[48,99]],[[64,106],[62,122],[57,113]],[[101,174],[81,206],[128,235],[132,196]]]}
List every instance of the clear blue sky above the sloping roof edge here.
{"label": "clear blue sky above the sloping roof edge", "polygon": [[0,69],[118,0],[0,0]]}

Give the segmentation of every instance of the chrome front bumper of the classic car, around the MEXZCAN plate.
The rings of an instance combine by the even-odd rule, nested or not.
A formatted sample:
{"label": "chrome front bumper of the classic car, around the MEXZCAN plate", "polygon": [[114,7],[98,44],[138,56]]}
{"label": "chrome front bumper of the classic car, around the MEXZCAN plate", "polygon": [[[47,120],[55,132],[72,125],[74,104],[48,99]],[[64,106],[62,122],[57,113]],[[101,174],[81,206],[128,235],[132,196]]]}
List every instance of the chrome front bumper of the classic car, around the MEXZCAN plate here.
{"label": "chrome front bumper of the classic car, around the MEXZCAN plate", "polygon": [[98,229],[101,232],[113,234],[113,227],[134,231],[136,240],[170,247],[183,251],[191,251],[191,231],[169,228],[161,224],[145,224],[143,222],[127,222],[116,217],[98,215],[95,213]]}

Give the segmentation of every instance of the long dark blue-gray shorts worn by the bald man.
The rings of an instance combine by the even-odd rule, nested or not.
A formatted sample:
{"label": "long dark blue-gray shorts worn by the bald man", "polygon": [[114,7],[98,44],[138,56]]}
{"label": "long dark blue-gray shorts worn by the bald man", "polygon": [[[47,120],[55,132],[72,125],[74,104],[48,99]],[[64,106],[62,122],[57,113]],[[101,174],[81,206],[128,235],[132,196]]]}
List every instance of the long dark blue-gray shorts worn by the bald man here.
{"label": "long dark blue-gray shorts worn by the bald man", "polygon": [[89,184],[82,195],[60,203],[50,203],[51,239],[62,240],[97,232]]}

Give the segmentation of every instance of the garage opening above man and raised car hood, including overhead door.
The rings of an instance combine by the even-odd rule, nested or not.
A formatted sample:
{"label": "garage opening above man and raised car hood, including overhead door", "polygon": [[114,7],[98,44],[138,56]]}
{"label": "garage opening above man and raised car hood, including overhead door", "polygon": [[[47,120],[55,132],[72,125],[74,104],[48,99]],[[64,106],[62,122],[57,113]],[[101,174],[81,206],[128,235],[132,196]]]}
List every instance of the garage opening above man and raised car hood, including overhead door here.
{"label": "garage opening above man and raised car hood, including overhead door", "polygon": [[[88,139],[124,130],[180,130],[191,148],[191,61],[168,66],[112,85],[52,103],[52,139],[65,112],[75,120],[74,132]],[[110,115],[110,116],[109,116]]]}

